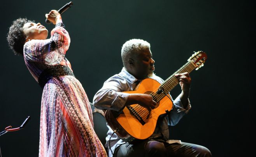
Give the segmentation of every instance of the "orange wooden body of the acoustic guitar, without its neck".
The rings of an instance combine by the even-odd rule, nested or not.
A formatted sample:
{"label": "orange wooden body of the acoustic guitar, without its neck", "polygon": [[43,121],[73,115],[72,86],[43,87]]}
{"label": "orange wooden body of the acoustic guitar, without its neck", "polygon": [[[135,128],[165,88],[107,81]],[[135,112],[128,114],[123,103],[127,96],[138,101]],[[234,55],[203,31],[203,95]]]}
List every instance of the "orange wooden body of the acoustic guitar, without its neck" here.
{"label": "orange wooden body of the acoustic guitar, without its neck", "polygon": [[[160,87],[160,83],[152,78],[146,78],[140,82],[136,90],[127,91],[125,93],[135,94],[149,94],[154,90]],[[131,107],[136,108],[140,107],[138,104],[133,104]],[[162,114],[166,114],[166,110],[170,111],[173,107],[172,101],[167,97],[163,97],[156,105],[155,109],[151,110],[149,118],[146,118],[149,112],[146,108],[144,109],[144,121],[143,125],[131,111],[125,107],[123,112],[119,115],[116,115],[111,110],[105,112],[105,118],[107,119],[108,124],[113,130],[118,130],[116,134],[126,142],[132,142],[134,139],[144,140],[150,137],[155,128],[158,117]]]}

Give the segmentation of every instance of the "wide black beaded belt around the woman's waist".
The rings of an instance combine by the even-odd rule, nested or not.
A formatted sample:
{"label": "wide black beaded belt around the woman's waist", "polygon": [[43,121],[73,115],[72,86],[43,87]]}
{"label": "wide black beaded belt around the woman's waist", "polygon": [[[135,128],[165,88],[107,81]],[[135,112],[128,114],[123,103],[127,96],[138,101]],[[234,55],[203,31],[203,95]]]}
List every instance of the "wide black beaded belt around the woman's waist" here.
{"label": "wide black beaded belt around the woman's waist", "polygon": [[53,77],[71,75],[75,76],[68,66],[65,65],[54,65],[45,69],[38,78],[39,85],[44,88],[44,85],[51,80]]}

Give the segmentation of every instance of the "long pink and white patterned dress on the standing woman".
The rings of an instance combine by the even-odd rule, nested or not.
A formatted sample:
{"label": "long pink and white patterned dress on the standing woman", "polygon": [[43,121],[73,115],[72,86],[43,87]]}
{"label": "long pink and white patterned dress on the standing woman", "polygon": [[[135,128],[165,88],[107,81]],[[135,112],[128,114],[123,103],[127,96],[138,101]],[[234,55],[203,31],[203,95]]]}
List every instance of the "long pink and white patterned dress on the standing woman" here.
{"label": "long pink and white patterned dress on the standing woman", "polygon": [[[50,66],[66,65],[71,70],[65,58],[69,44],[62,23],[56,24],[50,39],[25,43],[25,63],[37,82]],[[52,78],[42,94],[39,157],[95,156],[107,154],[93,130],[91,107],[82,85],[71,75]]]}

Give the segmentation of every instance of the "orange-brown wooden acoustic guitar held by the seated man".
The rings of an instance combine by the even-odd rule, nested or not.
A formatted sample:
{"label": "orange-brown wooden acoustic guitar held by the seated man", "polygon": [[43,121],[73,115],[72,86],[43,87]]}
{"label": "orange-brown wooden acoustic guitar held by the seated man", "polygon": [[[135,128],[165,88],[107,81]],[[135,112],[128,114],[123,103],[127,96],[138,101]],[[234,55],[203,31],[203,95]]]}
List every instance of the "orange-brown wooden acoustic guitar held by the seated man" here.
{"label": "orange-brown wooden acoustic guitar held by the seated man", "polygon": [[194,69],[198,70],[198,68],[203,66],[206,59],[206,53],[198,51],[188,59],[185,65],[162,84],[152,78],[142,80],[135,90],[125,93],[149,94],[157,103],[156,108],[152,109],[151,113],[149,113],[146,108],[139,104],[133,104],[124,107],[121,114],[117,114],[116,111],[106,110],[104,116],[109,126],[125,142],[132,143],[135,139],[144,140],[150,137],[156,128],[158,117],[167,114],[173,108],[173,103],[168,93],[179,84],[178,79],[174,75],[176,73],[190,73]]}

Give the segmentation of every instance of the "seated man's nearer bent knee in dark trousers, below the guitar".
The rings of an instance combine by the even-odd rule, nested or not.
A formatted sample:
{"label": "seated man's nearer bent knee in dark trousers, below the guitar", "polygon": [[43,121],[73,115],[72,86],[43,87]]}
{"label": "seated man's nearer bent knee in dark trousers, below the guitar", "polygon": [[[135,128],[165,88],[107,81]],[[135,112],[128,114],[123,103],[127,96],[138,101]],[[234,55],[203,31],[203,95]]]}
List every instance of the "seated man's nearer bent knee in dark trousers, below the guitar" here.
{"label": "seated man's nearer bent knee in dark trousers, below the guitar", "polygon": [[157,141],[149,141],[146,145],[146,156],[166,157],[168,155],[165,145]]}

